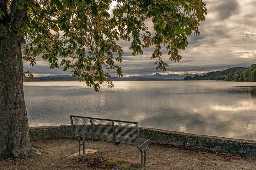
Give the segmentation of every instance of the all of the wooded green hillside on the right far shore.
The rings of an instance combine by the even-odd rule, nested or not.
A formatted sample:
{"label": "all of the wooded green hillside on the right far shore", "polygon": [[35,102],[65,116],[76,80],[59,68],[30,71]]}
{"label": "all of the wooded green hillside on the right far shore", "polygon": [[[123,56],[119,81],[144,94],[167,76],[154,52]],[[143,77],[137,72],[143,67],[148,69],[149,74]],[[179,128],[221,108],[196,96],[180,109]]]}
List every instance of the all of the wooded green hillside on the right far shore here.
{"label": "all of the wooded green hillside on the right far shore", "polygon": [[256,64],[251,67],[233,67],[204,75],[187,76],[184,80],[256,81]]}

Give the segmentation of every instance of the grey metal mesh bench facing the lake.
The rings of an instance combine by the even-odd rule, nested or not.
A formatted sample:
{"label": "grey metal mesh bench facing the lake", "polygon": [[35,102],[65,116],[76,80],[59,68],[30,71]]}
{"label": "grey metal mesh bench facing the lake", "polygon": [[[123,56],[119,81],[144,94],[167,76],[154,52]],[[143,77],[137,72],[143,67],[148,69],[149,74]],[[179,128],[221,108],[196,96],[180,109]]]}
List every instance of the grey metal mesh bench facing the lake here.
{"label": "grey metal mesh bench facing the lake", "polygon": [[[98,119],[81,116],[70,116],[72,135],[78,140],[78,153],[82,145],[83,154],[85,152],[85,138],[91,138],[92,141],[98,140],[111,141],[114,145],[126,143],[135,145],[140,150],[140,167],[146,165],[146,150],[151,140],[139,137],[139,126],[137,122]],[[79,137],[83,137],[81,143]],[[144,154],[143,154],[144,148]]]}

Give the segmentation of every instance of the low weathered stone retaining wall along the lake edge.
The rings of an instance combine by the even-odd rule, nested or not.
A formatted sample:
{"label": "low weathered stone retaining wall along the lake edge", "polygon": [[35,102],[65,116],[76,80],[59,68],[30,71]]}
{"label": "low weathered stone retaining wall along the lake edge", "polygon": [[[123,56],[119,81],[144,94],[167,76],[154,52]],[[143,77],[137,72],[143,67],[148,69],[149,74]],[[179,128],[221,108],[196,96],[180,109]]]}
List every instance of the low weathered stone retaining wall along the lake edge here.
{"label": "low weathered stone retaining wall along the lake edge", "polygon": [[[72,137],[70,125],[30,128],[31,140],[67,137]],[[171,146],[256,157],[256,141],[195,135],[152,128],[140,128],[140,137],[149,138],[154,143]]]}

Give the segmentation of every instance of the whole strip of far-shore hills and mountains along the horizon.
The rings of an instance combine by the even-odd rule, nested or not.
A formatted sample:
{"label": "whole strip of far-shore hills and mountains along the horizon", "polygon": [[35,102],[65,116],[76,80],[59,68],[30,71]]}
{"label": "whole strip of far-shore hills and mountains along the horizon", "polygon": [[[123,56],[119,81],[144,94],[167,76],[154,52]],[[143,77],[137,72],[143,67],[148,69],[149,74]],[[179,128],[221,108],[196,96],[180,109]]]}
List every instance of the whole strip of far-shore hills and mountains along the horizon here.
{"label": "whole strip of far-shore hills and mountains along the horizon", "polygon": [[[168,81],[168,80],[225,80],[225,81],[256,81],[256,64],[251,67],[232,67],[225,70],[209,72],[206,74],[160,74],[130,75],[128,77],[112,76],[111,81]],[[30,81],[28,78],[23,81]],[[35,77],[34,81],[78,81],[70,75],[54,75],[48,77]]]}

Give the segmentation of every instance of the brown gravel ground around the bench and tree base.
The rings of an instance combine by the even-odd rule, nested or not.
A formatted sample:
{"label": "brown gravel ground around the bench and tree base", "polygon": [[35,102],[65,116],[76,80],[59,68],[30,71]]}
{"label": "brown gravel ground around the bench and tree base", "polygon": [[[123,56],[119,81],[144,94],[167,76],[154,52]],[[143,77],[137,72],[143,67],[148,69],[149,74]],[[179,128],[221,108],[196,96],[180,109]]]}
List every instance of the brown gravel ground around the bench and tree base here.
{"label": "brown gravel ground around the bench and tree base", "polygon": [[[41,152],[39,157],[6,158],[0,157],[1,170],[78,170],[88,168],[84,162],[76,161],[78,157],[68,157],[77,152],[78,142],[73,139],[52,139],[32,141],[32,146]],[[139,149],[132,145],[114,146],[111,142],[86,141],[85,148],[98,152],[94,156],[121,158],[129,163],[140,162]],[[256,159],[236,158],[223,154],[212,154],[170,146],[150,145],[148,147],[147,165],[141,170],[253,170]],[[120,167],[119,167],[120,168]],[[118,169],[114,167],[113,169]],[[136,169],[136,168],[133,168]]]}

